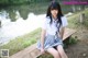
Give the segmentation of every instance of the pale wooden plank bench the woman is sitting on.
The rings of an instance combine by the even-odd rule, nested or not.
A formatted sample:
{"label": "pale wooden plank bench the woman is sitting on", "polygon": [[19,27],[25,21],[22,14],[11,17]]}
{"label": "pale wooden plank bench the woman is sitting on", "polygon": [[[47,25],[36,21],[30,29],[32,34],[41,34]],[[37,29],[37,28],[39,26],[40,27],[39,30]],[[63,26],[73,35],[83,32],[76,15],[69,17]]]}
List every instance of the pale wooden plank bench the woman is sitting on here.
{"label": "pale wooden plank bench the woman is sitting on", "polygon": [[[70,37],[76,31],[72,28],[66,28],[63,40]],[[31,45],[30,47],[12,55],[10,58],[36,58],[41,56],[41,51],[36,49],[36,44]]]}

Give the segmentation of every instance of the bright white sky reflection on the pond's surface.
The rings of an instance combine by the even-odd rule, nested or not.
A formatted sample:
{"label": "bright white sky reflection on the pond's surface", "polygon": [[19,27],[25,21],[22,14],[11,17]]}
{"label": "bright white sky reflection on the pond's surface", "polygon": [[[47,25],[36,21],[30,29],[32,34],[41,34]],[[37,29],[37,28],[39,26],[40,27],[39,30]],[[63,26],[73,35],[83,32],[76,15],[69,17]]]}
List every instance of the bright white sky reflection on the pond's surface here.
{"label": "bright white sky reflection on the pond's surface", "polygon": [[0,28],[0,43],[6,43],[13,37],[28,34],[42,25],[45,14],[35,15],[29,13],[28,19],[23,20],[19,13],[16,13],[16,21],[11,22],[10,19],[2,21],[2,27]]}

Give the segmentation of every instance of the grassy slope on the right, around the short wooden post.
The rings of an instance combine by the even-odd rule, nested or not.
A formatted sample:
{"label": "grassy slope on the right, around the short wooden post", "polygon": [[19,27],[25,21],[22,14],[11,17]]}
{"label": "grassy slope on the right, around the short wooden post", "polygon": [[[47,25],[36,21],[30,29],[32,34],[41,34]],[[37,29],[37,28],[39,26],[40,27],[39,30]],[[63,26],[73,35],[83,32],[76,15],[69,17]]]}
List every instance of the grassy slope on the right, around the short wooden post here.
{"label": "grassy slope on the right, around the short wooden post", "polygon": [[[87,9],[88,10],[88,9]],[[80,12],[76,12],[74,13],[72,16],[68,16],[68,27],[70,28],[79,28],[80,26],[88,26],[88,11],[80,11]],[[79,15],[80,13],[85,13],[85,20],[82,23],[79,22]]]}

